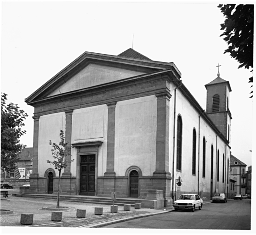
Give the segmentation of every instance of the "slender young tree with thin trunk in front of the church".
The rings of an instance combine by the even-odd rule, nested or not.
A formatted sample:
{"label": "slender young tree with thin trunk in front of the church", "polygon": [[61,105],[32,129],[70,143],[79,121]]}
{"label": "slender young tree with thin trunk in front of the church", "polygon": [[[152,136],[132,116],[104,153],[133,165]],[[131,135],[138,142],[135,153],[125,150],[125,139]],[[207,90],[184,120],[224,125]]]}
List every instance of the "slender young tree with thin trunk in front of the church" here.
{"label": "slender young tree with thin trunk in front of the church", "polygon": [[60,206],[60,177],[62,169],[67,167],[67,163],[73,162],[73,160],[68,161],[65,160],[66,157],[71,156],[70,150],[71,146],[68,146],[68,142],[65,142],[64,132],[63,130],[60,131],[60,143],[59,145],[52,143],[50,140],[50,145],[52,146],[51,154],[54,158],[54,161],[47,160],[48,163],[53,164],[55,169],[59,171],[59,181],[58,181],[58,194],[57,194],[57,207]]}

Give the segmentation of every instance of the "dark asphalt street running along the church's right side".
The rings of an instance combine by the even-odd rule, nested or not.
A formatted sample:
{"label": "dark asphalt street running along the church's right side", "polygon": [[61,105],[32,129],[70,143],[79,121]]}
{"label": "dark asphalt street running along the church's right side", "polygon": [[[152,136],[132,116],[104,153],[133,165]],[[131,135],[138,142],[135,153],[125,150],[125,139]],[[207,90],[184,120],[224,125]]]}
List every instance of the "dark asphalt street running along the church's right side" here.
{"label": "dark asphalt street running along the church's right side", "polygon": [[180,210],[139,218],[102,228],[137,229],[238,229],[250,230],[251,200],[229,200],[228,203],[205,204],[195,212]]}

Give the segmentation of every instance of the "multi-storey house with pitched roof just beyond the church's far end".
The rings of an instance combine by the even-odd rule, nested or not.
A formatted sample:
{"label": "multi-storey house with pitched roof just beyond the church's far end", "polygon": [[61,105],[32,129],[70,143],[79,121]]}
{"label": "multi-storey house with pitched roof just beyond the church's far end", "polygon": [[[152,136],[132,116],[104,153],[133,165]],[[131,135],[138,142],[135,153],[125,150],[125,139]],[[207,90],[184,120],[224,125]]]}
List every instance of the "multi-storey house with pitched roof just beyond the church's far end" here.
{"label": "multi-storey house with pitched roof just beyond the church's far end", "polygon": [[230,179],[236,181],[235,183],[235,194],[245,195],[246,183],[246,164],[240,161],[238,158],[231,155],[230,157]]}

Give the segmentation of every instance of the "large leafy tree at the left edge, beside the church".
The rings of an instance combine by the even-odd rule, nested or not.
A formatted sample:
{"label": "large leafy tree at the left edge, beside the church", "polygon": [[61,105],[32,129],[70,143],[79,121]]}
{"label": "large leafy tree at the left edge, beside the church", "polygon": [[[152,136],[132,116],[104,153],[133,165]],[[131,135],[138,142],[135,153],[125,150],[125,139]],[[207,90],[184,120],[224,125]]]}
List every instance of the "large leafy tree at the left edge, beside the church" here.
{"label": "large leafy tree at the left edge, beside the church", "polygon": [[1,93],[1,170],[10,172],[16,168],[19,153],[26,145],[20,143],[20,137],[26,134],[21,128],[28,117],[17,104],[6,104],[7,94]]}

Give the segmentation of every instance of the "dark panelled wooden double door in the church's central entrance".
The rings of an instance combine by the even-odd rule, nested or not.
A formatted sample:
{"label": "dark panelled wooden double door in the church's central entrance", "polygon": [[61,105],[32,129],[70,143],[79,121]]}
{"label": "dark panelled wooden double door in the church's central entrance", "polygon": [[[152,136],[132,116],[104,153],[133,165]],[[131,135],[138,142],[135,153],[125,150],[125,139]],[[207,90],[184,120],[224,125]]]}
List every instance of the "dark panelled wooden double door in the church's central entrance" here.
{"label": "dark panelled wooden double door in the church's central entrance", "polygon": [[80,155],[80,195],[95,195],[95,154]]}

